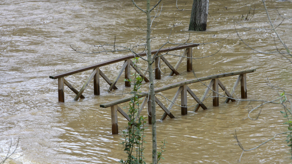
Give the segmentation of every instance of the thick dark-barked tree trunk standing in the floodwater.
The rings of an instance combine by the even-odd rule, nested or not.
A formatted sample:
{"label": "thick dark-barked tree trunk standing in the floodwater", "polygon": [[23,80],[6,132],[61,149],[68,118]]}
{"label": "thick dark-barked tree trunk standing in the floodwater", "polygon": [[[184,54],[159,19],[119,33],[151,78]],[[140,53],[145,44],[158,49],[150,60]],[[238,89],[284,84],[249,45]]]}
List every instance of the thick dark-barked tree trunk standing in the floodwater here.
{"label": "thick dark-barked tree trunk standing in the floodwater", "polygon": [[207,28],[207,16],[209,0],[194,0],[192,5],[189,31],[205,31]]}

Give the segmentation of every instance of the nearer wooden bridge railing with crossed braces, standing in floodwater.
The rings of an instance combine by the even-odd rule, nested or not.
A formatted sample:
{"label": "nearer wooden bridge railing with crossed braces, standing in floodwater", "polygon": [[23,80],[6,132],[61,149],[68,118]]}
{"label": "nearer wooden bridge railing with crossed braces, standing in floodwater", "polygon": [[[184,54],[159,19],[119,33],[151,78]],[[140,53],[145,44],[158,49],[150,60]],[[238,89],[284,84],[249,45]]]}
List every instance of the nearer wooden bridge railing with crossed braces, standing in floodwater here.
{"label": "nearer wooden bridge railing with crossed braces, standing in floodwater", "polygon": [[[213,98],[213,106],[218,106],[219,105],[219,86],[221,89],[224,91],[224,93],[230,97],[226,98],[225,103],[228,103],[230,100],[235,101],[232,99],[232,95],[234,94],[234,91],[236,90],[236,87],[240,83],[241,85],[241,98],[247,98],[247,89],[246,89],[246,73],[252,73],[255,72],[256,69],[250,69],[250,70],[244,70],[244,71],[237,71],[237,72],[230,72],[230,73],[221,73],[217,75],[212,75],[212,76],[206,76],[206,77],[200,77],[197,79],[192,79],[192,80],[187,80],[187,81],[182,81],[182,82],[177,82],[173,83],[164,87],[160,87],[155,89],[155,93],[166,91],[171,88],[179,87],[178,91],[174,95],[173,99],[171,100],[170,104],[166,108],[161,101],[158,100],[158,98],[155,96],[155,101],[160,106],[160,108],[165,112],[161,118],[161,120],[164,120],[167,116],[170,118],[174,118],[174,115],[170,112],[171,108],[174,105],[174,102],[177,100],[179,94],[181,94],[181,114],[186,115],[187,114],[187,92],[192,96],[192,98],[198,103],[197,106],[195,107],[194,111],[197,111],[200,107],[202,107],[204,110],[207,109],[206,105],[204,105],[203,101],[207,97],[208,92],[211,90],[212,87],[212,98]],[[238,78],[232,87],[231,91],[229,92],[226,87],[223,85],[223,83],[220,81],[221,77],[228,77],[228,76],[236,76],[238,75]],[[202,97],[199,99],[195,93],[187,86],[188,84],[192,84],[195,82],[202,82],[206,80],[211,80],[209,85],[207,86],[204,94]],[[139,112],[141,112],[148,103],[148,122],[151,124],[151,105],[150,103],[150,98],[148,97],[149,93],[141,93],[139,97],[145,97],[144,101],[140,105]],[[124,116],[128,121],[130,121],[130,118],[128,114],[122,110],[118,105],[127,101],[130,101],[131,97],[126,97],[122,98],[119,100],[111,101],[105,104],[101,104],[100,107],[102,108],[107,108],[110,107],[111,109],[111,122],[112,122],[112,134],[118,134],[118,116],[117,112],[119,112],[121,115]]]}

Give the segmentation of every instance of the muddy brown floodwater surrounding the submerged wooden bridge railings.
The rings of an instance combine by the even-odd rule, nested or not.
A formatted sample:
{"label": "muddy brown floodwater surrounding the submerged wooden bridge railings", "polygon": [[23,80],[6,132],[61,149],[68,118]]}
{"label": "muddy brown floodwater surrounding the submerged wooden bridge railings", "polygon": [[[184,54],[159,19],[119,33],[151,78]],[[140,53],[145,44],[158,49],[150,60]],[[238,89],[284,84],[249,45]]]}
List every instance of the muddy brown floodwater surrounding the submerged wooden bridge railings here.
{"label": "muddy brown floodwater surrounding the submerged wooden bridge railings", "polygon": [[[144,5],[144,2],[137,2]],[[291,17],[291,1],[266,1],[268,7],[278,8],[286,17]],[[185,5],[186,4],[186,5]],[[244,45],[243,40],[259,51],[275,50],[274,32],[269,30],[269,23],[263,10],[251,10],[249,21],[241,21],[241,15],[248,13],[248,8],[263,8],[260,1],[210,1],[208,27],[205,32],[189,32],[188,23],[191,13],[191,1],[163,2],[163,11],[158,17],[153,30],[152,49],[157,49],[168,39],[173,43],[182,43],[188,36],[194,43],[213,42],[227,37],[221,42],[200,45],[193,49],[195,57],[214,56],[193,61],[193,68],[198,77],[225,73],[242,69],[256,68],[255,73],[247,74],[248,98],[272,100],[277,91],[267,86],[267,77],[273,85],[291,89],[291,64],[279,54],[255,52]],[[227,9],[225,8],[227,7]],[[145,8],[145,7],[144,7]],[[118,114],[119,135],[111,134],[110,109],[99,105],[118,99],[119,96],[108,94],[107,84],[101,83],[101,95],[94,96],[93,86],[84,92],[83,100],[73,101],[74,93],[65,89],[65,103],[58,103],[57,80],[49,75],[74,68],[90,65],[107,59],[114,59],[127,53],[79,54],[70,48],[78,47],[82,52],[98,49],[92,45],[113,43],[133,46],[143,44],[146,15],[133,7],[130,1],[24,1],[10,0],[0,7],[1,26],[14,28],[12,43],[0,54],[0,153],[4,157],[10,141],[19,145],[12,162],[23,164],[35,163],[118,163],[125,159],[121,131],[127,122]],[[253,15],[254,12],[254,16]],[[277,12],[270,10],[273,20]],[[276,24],[281,21],[278,17]],[[250,29],[242,26],[261,28]],[[176,26],[171,35],[169,32]],[[137,28],[140,27],[141,29]],[[235,30],[236,27],[236,30]],[[283,40],[291,48],[291,20],[285,20],[278,27]],[[10,31],[11,32],[11,31]],[[7,39],[9,40],[8,33]],[[7,41],[3,42],[7,44]],[[279,45],[279,44],[278,44]],[[2,47],[1,47],[2,48]],[[182,50],[174,52],[182,54]],[[177,57],[167,56],[175,64]],[[121,63],[101,68],[114,79]],[[143,65],[143,62],[141,62]],[[161,66],[164,70],[165,65]],[[194,78],[193,73],[186,72],[183,63],[179,76],[168,77],[169,69],[155,85],[161,87],[173,82]],[[78,73],[66,77],[74,87],[80,88],[90,72]],[[221,81],[230,90],[236,77],[226,77]],[[118,82],[120,94],[130,91],[123,88],[122,79]],[[206,87],[193,84],[189,87],[202,96]],[[146,89],[144,84],[142,89]],[[172,98],[175,89],[163,92],[163,96]],[[237,89],[236,94],[240,94]],[[162,98],[161,98],[162,99]],[[220,105],[212,106],[212,98],[205,101],[208,110],[200,109],[181,116],[179,107],[173,108],[175,119],[157,122],[158,141],[166,139],[165,160],[161,163],[236,163],[241,149],[233,137],[235,130],[245,148],[252,148],[274,134],[286,131],[285,119],[280,113],[281,107],[268,104],[262,108],[256,121],[247,117],[248,102],[225,104],[220,98]],[[163,101],[166,103],[166,101]],[[178,102],[179,103],[179,102]],[[196,102],[188,96],[188,106]],[[259,105],[253,102],[252,105]],[[145,111],[144,111],[144,114]],[[157,118],[163,114],[157,108]],[[146,162],[151,162],[151,126],[146,130]],[[285,143],[286,135],[277,137],[260,148],[243,154],[241,163],[289,163],[289,148]],[[160,145],[158,143],[158,145]],[[14,148],[14,147],[13,147]]]}

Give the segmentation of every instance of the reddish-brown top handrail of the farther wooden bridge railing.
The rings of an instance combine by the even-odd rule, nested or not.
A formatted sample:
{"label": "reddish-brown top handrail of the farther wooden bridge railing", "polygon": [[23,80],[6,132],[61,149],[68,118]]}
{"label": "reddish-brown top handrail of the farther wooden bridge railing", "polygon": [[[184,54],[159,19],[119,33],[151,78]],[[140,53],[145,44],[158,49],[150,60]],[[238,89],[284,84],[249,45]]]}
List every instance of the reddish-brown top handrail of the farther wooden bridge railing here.
{"label": "reddish-brown top handrail of the farther wooden bridge railing", "polygon": [[[178,49],[186,49],[186,48],[191,48],[191,47],[196,47],[196,46],[198,46],[198,44],[181,45],[181,46],[176,46],[176,47],[169,47],[169,48],[160,49],[159,52],[158,52],[158,49],[157,49],[157,50],[151,51],[151,54],[163,53],[163,52],[168,52],[168,51],[173,51],[173,50],[178,50]],[[146,56],[146,53],[145,52],[141,53],[141,54],[139,54],[139,56]],[[133,54],[132,55],[128,55],[128,56],[123,56],[123,57],[119,57],[119,58],[115,58],[115,59],[110,59],[110,60],[107,60],[107,61],[104,61],[104,62],[92,64],[92,65],[89,65],[89,66],[85,66],[85,67],[82,67],[82,68],[78,68],[78,69],[75,69],[75,70],[71,70],[71,71],[68,71],[68,72],[58,73],[58,74],[55,74],[55,75],[52,75],[52,76],[49,76],[49,77],[51,79],[57,79],[57,78],[60,78],[60,77],[65,77],[65,76],[72,75],[72,74],[75,74],[75,73],[87,71],[87,70],[90,70],[90,69],[102,67],[102,66],[105,66],[105,65],[108,65],[108,64],[117,63],[117,62],[120,62],[120,61],[124,61],[124,60],[127,60],[127,59],[133,59],[133,58],[135,58],[135,56]]]}

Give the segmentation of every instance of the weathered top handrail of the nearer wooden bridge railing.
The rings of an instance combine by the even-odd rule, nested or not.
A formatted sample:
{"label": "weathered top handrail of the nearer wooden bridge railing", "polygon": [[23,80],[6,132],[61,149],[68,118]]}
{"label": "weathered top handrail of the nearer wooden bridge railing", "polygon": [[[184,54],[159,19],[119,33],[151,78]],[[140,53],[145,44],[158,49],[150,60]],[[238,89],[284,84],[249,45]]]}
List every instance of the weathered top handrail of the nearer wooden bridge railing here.
{"label": "weathered top handrail of the nearer wooden bridge railing", "polygon": [[[244,70],[244,71],[220,73],[220,74],[217,74],[217,75],[199,77],[199,78],[196,78],[196,79],[186,80],[186,81],[182,81],[182,82],[176,82],[176,83],[169,84],[169,85],[166,85],[166,86],[163,86],[163,87],[159,87],[159,88],[155,89],[154,92],[158,93],[158,92],[165,91],[165,90],[168,90],[168,89],[171,89],[171,88],[180,87],[180,86],[183,86],[183,85],[186,85],[186,84],[191,84],[191,83],[195,83],[195,82],[216,79],[216,78],[219,78],[219,77],[227,77],[227,76],[235,76],[235,75],[240,75],[240,74],[245,74],[245,73],[252,73],[252,72],[255,72],[255,71],[256,71],[256,69],[249,69],[249,70]],[[144,96],[148,96],[148,95],[149,95],[148,93],[141,93],[139,95],[139,97],[144,97]],[[131,100],[131,97],[125,97],[125,98],[121,98],[121,99],[118,99],[118,100],[107,102],[105,104],[101,104],[100,107],[107,108],[109,106],[118,105],[118,104],[130,101],[130,100]]]}

